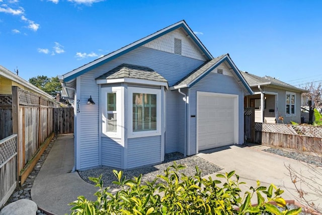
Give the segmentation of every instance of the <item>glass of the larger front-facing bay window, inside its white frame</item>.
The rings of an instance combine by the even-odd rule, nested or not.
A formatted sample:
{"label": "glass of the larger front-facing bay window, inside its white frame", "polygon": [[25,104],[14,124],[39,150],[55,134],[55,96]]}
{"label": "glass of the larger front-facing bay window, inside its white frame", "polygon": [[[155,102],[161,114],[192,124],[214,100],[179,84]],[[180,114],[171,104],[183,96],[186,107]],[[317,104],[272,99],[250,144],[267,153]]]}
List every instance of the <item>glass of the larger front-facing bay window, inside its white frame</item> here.
{"label": "glass of the larger front-facing bay window, inside its white frame", "polygon": [[133,131],[156,130],[156,95],[133,93]]}

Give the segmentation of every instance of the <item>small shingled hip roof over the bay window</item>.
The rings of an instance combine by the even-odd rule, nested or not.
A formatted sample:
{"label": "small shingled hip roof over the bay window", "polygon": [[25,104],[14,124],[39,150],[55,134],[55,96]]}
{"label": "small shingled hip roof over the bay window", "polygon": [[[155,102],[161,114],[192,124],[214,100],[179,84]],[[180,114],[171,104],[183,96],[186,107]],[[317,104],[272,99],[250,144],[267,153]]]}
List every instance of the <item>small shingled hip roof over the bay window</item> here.
{"label": "small shingled hip roof over the bay window", "polygon": [[126,63],[123,63],[96,78],[97,84],[118,82],[159,85],[166,86],[168,88],[168,81],[153,69],[146,66]]}

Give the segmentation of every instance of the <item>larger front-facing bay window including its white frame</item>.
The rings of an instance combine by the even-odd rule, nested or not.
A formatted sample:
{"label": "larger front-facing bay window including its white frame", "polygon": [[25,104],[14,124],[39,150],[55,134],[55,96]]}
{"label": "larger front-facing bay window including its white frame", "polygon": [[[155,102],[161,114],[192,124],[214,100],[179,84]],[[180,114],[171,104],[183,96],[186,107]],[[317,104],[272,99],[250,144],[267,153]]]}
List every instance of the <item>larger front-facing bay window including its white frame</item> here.
{"label": "larger front-facing bay window including its white frame", "polygon": [[160,135],[161,90],[128,88],[128,137]]}

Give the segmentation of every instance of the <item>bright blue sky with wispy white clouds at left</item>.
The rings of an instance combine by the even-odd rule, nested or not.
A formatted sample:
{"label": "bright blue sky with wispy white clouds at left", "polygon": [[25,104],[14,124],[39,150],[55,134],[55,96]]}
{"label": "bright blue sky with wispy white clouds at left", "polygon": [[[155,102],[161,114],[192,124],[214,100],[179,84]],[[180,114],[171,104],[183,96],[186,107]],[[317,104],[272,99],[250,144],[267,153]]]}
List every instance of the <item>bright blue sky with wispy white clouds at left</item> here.
{"label": "bright blue sky with wispy white clouds at left", "polygon": [[322,82],[322,1],[0,0],[0,64],[54,77],[185,20],[215,57],[298,86]]}

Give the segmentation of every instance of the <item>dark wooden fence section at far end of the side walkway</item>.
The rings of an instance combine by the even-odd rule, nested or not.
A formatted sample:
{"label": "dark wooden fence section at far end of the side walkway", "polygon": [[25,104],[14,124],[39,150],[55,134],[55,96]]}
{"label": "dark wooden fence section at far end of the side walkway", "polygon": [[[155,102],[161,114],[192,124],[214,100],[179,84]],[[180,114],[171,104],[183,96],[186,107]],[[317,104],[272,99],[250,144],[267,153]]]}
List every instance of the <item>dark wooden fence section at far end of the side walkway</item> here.
{"label": "dark wooden fence section at far end of the side walkway", "polygon": [[55,134],[74,132],[74,108],[54,108]]}

